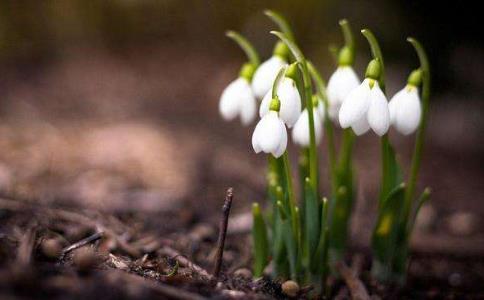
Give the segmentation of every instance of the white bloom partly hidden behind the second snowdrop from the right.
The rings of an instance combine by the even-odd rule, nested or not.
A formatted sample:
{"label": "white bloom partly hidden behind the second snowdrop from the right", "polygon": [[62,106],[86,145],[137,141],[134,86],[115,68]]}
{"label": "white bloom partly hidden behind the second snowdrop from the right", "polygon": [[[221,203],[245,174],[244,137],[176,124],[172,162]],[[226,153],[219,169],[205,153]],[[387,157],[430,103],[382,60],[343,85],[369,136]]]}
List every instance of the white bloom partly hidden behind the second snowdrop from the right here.
{"label": "white bloom partly hidden behind the second snowdrop from the right", "polygon": [[338,117],[343,100],[353,89],[360,85],[360,79],[350,66],[341,66],[331,75],[328,81],[328,114],[332,120]]}

